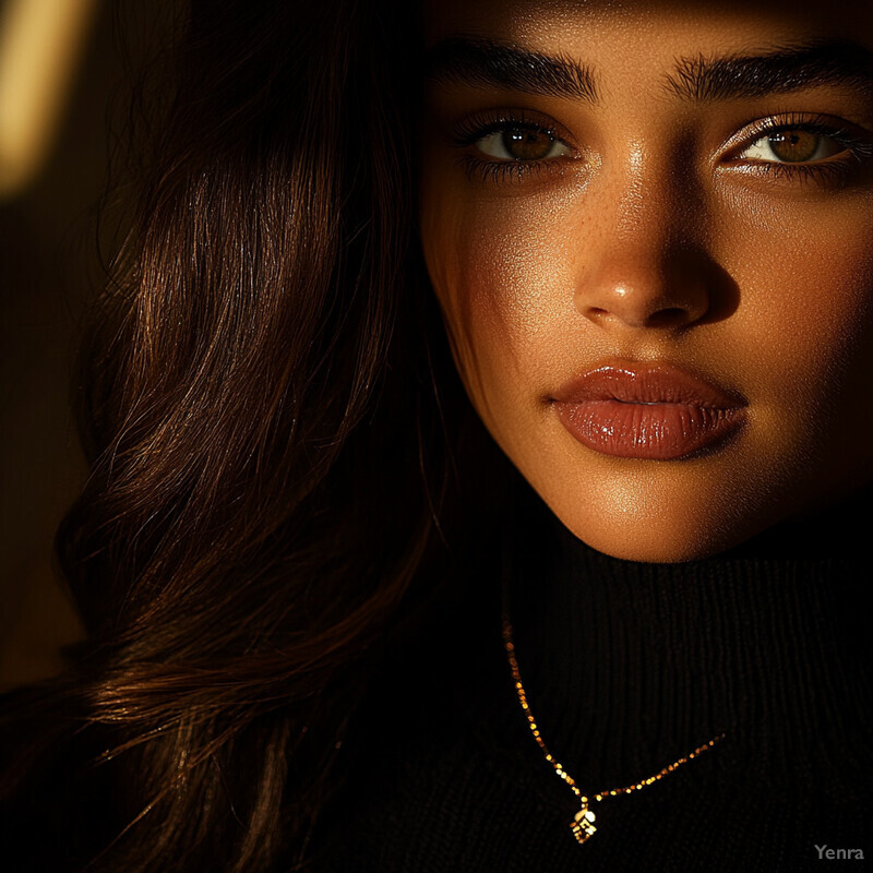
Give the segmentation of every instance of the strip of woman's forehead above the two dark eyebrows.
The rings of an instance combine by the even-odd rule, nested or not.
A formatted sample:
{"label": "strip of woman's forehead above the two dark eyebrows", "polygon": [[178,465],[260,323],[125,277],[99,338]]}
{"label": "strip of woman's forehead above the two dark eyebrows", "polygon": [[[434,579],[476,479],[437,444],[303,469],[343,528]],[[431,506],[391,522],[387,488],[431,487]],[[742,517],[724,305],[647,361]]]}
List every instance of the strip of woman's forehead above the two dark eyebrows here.
{"label": "strip of woman's forehead above the two dark eyebrows", "polygon": [[871,0],[427,0],[429,44],[469,35],[552,50],[615,52],[608,61],[686,46],[757,49],[811,38],[873,45]]}

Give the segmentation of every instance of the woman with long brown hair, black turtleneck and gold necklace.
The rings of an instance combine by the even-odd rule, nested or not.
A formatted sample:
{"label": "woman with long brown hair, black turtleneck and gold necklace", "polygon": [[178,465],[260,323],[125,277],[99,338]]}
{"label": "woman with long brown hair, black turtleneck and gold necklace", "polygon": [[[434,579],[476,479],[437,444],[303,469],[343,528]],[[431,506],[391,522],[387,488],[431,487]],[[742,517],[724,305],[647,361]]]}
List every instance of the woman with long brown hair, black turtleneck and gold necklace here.
{"label": "woman with long brown hair, black turtleneck and gold necklace", "polygon": [[193,4],[22,869],[863,856],[869,12],[419,12]]}

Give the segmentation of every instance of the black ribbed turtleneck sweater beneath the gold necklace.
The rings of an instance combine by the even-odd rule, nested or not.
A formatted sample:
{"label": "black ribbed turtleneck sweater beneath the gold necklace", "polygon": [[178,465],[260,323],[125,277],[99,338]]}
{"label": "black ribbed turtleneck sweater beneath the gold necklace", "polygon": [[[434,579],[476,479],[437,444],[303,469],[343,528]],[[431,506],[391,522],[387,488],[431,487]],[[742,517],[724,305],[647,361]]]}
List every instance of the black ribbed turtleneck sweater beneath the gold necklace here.
{"label": "black ribbed turtleneck sweater beneath the gold necklace", "polygon": [[[587,548],[531,502],[467,583],[477,590],[391,650],[315,869],[797,871],[857,861],[838,850],[873,858],[866,515],[857,500],[716,558],[642,564]],[[503,585],[531,711],[584,793],[725,734],[594,804],[583,846],[578,801],[515,693]]]}

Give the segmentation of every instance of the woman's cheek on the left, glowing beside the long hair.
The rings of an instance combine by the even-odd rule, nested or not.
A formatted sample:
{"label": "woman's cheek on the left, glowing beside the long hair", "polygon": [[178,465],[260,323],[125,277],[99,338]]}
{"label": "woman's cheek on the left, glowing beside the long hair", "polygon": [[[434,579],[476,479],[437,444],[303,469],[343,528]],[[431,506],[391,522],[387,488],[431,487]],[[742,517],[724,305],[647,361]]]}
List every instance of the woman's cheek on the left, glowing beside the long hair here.
{"label": "woman's cheek on the left, glowing beside the long hair", "polygon": [[[453,207],[463,202],[463,208]],[[536,407],[536,385],[566,367],[553,325],[574,318],[576,253],[555,232],[561,214],[547,200],[470,202],[451,192],[424,201],[424,258],[455,362],[479,415],[499,442],[501,410]],[[505,446],[504,446],[505,447]]]}

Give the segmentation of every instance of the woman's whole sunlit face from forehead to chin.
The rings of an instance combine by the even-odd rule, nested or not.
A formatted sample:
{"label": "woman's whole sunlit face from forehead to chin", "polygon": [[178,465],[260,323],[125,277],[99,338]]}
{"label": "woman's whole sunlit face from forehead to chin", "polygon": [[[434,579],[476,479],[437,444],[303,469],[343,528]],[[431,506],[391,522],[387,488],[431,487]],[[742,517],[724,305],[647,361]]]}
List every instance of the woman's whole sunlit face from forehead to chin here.
{"label": "woman's whole sunlit face from forehead to chin", "polygon": [[678,561],[866,482],[869,0],[430,7],[424,258],[558,517]]}

